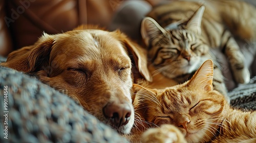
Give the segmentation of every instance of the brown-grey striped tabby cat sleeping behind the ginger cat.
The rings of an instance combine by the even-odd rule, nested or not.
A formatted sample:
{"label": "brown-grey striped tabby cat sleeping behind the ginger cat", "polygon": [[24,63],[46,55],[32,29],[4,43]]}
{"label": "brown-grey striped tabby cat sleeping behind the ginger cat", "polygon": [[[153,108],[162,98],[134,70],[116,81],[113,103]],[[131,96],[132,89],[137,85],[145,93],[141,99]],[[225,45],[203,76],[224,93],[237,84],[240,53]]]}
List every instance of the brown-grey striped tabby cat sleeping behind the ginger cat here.
{"label": "brown-grey striped tabby cat sleeping behind the ginger cat", "polygon": [[248,83],[250,73],[233,35],[256,39],[255,13],[247,3],[221,0],[174,1],[153,8],[141,23],[153,75],[153,82],[146,86],[165,88],[183,83],[205,60],[212,59],[214,88],[226,95],[221,67],[211,49],[225,53],[238,83]]}

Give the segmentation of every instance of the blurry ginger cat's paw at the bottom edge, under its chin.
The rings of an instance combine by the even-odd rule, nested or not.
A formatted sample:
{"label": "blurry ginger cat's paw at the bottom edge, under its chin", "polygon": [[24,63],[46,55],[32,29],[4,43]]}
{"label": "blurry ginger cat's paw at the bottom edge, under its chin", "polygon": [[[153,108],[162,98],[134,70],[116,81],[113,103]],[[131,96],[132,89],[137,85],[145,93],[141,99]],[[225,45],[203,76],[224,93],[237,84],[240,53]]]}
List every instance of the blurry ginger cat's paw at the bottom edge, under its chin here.
{"label": "blurry ginger cat's paw at the bottom edge, under its chin", "polygon": [[148,129],[142,135],[141,142],[184,143],[186,142],[186,140],[184,138],[184,135],[177,127],[173,125],[162,125],[160,128]]}

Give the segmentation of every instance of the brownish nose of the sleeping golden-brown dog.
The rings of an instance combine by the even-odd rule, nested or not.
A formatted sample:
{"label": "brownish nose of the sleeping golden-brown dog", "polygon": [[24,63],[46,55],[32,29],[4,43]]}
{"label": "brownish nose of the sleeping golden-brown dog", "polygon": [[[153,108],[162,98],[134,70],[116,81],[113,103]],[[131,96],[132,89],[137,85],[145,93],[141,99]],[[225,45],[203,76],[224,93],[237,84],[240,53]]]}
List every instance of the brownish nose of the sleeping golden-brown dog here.
{"label": "brownish nose of the sleeping golden-brown dog", "polygon": [[110,118],[115,127],[126,125],[131,116],[132,109],[128,103],[110,103],[103,108],[103,114]]}

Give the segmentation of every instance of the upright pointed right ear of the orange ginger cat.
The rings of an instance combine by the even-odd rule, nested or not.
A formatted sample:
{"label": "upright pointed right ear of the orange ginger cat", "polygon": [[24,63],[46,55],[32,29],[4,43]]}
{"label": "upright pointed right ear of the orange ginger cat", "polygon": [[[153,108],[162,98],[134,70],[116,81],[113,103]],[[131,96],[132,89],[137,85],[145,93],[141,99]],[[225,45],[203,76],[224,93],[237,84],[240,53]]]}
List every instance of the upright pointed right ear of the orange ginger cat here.
{"label": "upright pointed right ear of the orange ginger cat", "polygon": [[213,78],[214,63],[212,60],[206,60],[187,84],[193,88],[211,91],[214,89],[212,86]]}

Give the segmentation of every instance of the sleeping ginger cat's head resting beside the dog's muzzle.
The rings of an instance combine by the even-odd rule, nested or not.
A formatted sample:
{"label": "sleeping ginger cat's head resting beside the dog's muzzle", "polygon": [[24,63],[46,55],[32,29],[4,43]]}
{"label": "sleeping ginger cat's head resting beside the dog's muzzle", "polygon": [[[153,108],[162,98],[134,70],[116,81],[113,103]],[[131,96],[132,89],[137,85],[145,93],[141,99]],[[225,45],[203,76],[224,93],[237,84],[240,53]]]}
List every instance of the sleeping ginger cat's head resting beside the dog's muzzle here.
{"label": "sleeping ginger cat's head resting beside the dog's muzzle", "polygon": [[220,127],[224,96],[212,86],[213,63],[205,61],[191,80],[166,89],[147,89],[134,84],[134,107],[146,122],[173,124],[188,142],[208,141]]}

